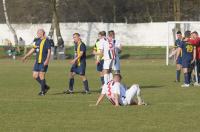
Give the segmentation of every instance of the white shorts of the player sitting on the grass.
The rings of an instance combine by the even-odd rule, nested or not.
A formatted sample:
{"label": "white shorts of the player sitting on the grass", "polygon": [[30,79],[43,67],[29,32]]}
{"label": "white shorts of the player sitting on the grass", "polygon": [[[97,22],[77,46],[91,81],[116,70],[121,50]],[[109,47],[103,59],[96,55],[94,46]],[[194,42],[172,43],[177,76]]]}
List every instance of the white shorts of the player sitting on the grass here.
{"label": "white shorts of the player sitting on the grass", "polygon": [[135,96],[140,96],[140,88],[138,84],[134,84],[126,90],[126,97],[123,99],[123,105],[130,105]]}

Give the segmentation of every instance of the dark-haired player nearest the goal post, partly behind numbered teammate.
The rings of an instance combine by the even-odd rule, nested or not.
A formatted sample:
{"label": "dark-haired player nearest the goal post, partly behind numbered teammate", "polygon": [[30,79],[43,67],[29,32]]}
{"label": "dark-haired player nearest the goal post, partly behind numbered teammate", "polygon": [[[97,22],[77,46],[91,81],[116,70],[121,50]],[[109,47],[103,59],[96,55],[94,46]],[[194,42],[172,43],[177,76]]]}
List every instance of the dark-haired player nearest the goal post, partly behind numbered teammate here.
{"label": "dark-haired player nearest the goal post, partly behind numbered teammate", "polygon": [[[175,41],[175,50],[180,47],[180,43],[182,41],[182,33],[181,31],[178,31],[176,33],[177,40]],[[182,57],[181,54],[178,56],[178,59],[176,61],[176,82],[180,82],[180,75],[181,75],[181,68],[182,68]]]}

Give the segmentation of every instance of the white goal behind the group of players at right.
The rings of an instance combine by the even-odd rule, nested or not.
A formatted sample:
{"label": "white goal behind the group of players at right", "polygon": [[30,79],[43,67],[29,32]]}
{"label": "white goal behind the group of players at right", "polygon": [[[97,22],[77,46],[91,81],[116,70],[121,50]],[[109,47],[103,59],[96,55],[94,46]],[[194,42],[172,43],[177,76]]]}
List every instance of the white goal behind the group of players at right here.
{"label": "white goal behind the group of players at right", "polygon": [[[180,29],[176,28],[179,25]],[[184,36],[186,30],[197,31],[200,33],[200,21],[168,21],[167,22],[167,45],[166,45],[166,65],[175,64],[175,56],[169,56],[172,52],[171,49],[174,46],[176,40],[176,32],[180,30]]]}

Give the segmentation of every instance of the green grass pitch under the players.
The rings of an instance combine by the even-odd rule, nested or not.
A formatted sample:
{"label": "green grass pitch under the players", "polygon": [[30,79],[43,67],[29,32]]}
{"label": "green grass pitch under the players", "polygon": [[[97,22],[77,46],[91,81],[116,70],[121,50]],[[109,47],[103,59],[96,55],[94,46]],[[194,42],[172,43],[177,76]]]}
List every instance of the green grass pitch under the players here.
{"label": "green grass pitch under the players", "polygon": [[[140,84],[149,106],[115,108],[105,100],[94,104],[99,79],[94,61],[88,60],[91,95],[61,94],[67,86],[69,61],[52,61],[47,74],[51,90],[37,96],[31,77],[33,61],[0,60],[1,132],[199,132],[200,88],[174,83],[174,66],[164,60],[122,60],[123,82]],[[75,90],[82,83],[75,78]]]}

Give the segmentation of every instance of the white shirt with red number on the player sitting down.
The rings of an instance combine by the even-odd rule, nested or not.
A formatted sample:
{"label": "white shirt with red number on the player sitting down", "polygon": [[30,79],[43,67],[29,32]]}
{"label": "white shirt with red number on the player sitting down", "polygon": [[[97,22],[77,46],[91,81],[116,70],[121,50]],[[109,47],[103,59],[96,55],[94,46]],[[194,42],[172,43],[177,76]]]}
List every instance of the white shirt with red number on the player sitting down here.
{"label": "white shirt with red number on the player sitting down", "polygon": [[108,99],[115,100],[114,95],[119,95],[119,103],[123,104],[123,100],[126,96],[126,89],[122,88],[119,82],[110,81],[108,84],[104,84],[101,94],[106,94]]}

